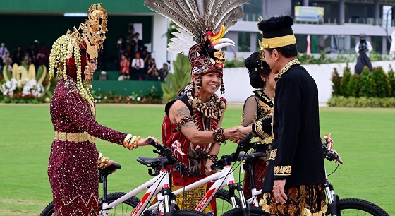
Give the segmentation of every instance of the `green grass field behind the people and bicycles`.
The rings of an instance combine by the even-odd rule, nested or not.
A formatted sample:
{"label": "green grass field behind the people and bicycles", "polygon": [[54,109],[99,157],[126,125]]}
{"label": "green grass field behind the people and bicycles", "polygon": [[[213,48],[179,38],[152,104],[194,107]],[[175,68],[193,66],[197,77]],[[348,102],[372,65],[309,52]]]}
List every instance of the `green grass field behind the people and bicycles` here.
{"label": "green grass field behind the people and bicycles", "polygon": [[[229,105],[224,127],[240,124],[241,105]],[[160,139],[164,105],[99,104],[97,121],[119,131]],[[395,215],[395,109],[321,108],[321,135],[332,133],[344,164],[329,176],[340,198],[361,198]],[[0,215],[38,215],[51,201],[47,176],[54,137],[49,104],[0,104]],[[97,148],[123,167],[109,177],[109,192],[128,192],[150,179],[135,157],[152,156],[152,148],[126,150],[97,140]],[[222,145],[221,154],[235,144]],[[327,172],[336,167],[327,163]]]}

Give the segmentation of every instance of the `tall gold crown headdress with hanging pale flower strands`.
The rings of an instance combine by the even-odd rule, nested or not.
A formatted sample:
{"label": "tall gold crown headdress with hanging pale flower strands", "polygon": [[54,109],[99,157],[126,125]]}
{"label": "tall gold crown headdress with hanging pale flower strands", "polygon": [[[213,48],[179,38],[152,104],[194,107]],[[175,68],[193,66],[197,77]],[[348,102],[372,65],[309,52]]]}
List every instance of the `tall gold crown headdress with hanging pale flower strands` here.
{"label": "tall gold crown headdress with hanging pale flower strands", "polygon": [[[49,77],[54,77],[55,68],[58,76],[63,76],[66,80],[66,70],[68,59],[74,56],[77,68],[77,85],[83,99],[92,102],[90,94],[90,84],[81,80],[81,58],[80,52],[86,49],[90,59],[97,58],[97,52],[103,48],[105,33],[107,32],[107,11],[102,8],[102,4],[92,4],[89,8],[88,18],[85,23],[81,23],[73,31],[67,30],[66,35],[59,37],[52,45],[49,56]],[[84,85],[83,85],[84,84]]]}

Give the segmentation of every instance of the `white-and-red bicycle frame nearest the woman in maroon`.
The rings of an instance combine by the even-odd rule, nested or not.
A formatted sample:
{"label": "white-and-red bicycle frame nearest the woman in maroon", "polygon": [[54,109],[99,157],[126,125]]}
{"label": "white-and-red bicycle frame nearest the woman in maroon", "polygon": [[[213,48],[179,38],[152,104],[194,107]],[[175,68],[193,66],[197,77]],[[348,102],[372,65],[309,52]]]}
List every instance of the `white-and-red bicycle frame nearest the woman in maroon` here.
{"label": "white-and-red bicycle frame nearest the woman in maroon", "polygon": [[[116,205],[121,204],[123,201],[127,200],[128,198],[131,198],[132,196],[137,195],[138,193],[144,191],[147,188],[148,188],[147,192],[145,192],[144,196],[142,196],[140,203],[138,203],[138,205],[136,206],[135,210],[133,210],[131,215],[132,216],[141,215],[142,212],[145,210],[145,208],[147,208],[147,205],[150,203],[152,197],[155,195],[158,195],[157,196],[158,203],[162,203],[162,205],[159,206],[158,203],[156,204],[157,208],[159,208],[159,215],[163,215],[164,213],[169,212],[170,211],[169,195],[158,193],[162,189],[170,191],[169,172],[162,169],[159,172],[158,176],[155,176],[153,179],[147,181],[145,184],[138,186],[138,188],[135,188],[133,191],[126,193],[121,198],[109,204],[103,203],[102,205],[103,210],[100,212],[100,215],[107,215],[108,211],[111,208],[114,208]],[[162,201],[164,201],[164,203]]]}

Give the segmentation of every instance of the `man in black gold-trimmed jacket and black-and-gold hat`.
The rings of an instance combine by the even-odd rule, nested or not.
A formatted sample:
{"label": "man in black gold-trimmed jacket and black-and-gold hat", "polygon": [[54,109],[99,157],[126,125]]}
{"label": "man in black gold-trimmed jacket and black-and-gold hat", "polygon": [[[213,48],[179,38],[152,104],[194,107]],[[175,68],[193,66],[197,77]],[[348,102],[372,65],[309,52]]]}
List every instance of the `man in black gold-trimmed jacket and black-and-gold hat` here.
{"label": "man in black gold-trimmed jacket and black-and-gold hat", "polygon": [[274,73],[273,143],[261,205],[271,215],[325,215],[325,171],[318,89],[296,59],[290,16],[258,23],[260,47]]}

